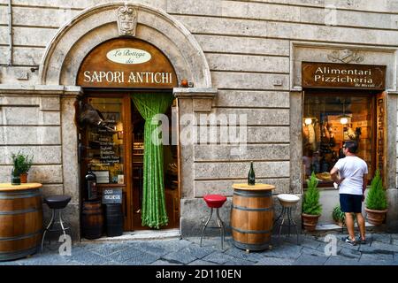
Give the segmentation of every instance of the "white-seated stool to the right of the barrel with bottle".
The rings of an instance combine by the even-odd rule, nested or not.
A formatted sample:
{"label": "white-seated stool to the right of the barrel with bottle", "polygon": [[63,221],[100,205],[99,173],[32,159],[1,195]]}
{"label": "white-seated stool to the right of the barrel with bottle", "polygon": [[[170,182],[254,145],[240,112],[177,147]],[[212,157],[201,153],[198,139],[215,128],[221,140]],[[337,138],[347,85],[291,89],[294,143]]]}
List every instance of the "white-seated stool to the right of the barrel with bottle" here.
{"label": "white-seated stool to the right of the barrel with bottle", "polygon": [[[279,214],[279,217],[275,219],[274,226],[279,225],[279,236],[278,241],[280,242],[280,233],[282,231],[283,226],[288,227],[288,236],[290,237],[290,227],[295,227],[295,233],[297,234],[297,244],[299,243],[299,234],[297,230],[297,225],[295,224],[295,220],[292,217],[292,208],[296,203],[300,201],[300,198],[297,195],[292,194],[280,194],[277,195],[279,199],[279,203],[282,206],[282,211]],[[282,218],[282,221],[279,223],[279,219]],[[285,224],[285,220],[287,219],[287,224]]]}

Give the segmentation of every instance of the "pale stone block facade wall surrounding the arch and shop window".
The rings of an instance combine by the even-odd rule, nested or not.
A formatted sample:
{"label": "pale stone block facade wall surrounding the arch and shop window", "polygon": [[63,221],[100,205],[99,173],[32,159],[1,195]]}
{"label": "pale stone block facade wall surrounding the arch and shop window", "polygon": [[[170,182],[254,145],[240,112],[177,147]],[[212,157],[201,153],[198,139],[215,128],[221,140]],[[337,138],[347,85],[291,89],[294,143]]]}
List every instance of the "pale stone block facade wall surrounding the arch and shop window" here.
{"label": "pale stone block facade wall surrounding the arch and shop window", "polygon": [[[41,64],[46,46],[59,28],[84,9],[111,1],[12,0],[12,67],[6,66],[9,56],[7,3],[0,0],[0,53],[4,54],[0,57],[0,83],[36,85],[40,80],[35,68]],[[302,194],[300,67],[306,57],[327,61],[330,51],[358,50],[369,64],[387,65],[387,86],[392,91],[396,90],[398,1],[134,0],[127,3],[147,4],[165,11],[187,27],[204,52],[210,67],[212,88],[218,88],[210,113],[243,114],[248,121],[248,147],[244,155],[231,155],[233,146],[219,144],[219,134],[213,144],[209,142],[181,149],[186,164],[181,180],[181,227],[187,227],[182,231],[184,234],[197,231],[201,225],[197,218],[203,219],[206,213],[202,196],[217,192],[231,197],[231,185],[246,181],[251,160],[255,161],[256,180],[275,185],[274,194]],[[333,4],[336,9],[325,10],[326,4]],[[325,17],[334,15],[336,22],[325,25]],[[103,30],[106,28],[104,26]],[[149,33],[149,30],[143,32]],[[96,38],[101,38],[101,34]],[[0,99],[7,97],[0,96]],[[33,103],[40,98],[27,96],[20,99],[21,102],[30,99],[29,103]],[[55,191],[71,189],[73,194],[77,172],[65,169],[73,169],[73,165],[65,166],[70,164],[71,157],[74,158],[67,153],[74,145],[67,144],[65,135],[61,136],[61,133],[73,131],[73,127],[61,126],[59,120],[60,105],[67,110],[72,104],[71,101],[57,99],[57,110],[25,107],[23,110],[34,118],[26,119],[19,126],[12,123],[17,119],[20,103],[14,101],[11,106],[2,108],[2,117],[11,124],[0,127],[3,131],[0,150],[28,145],[25,150],[52,152],[48,158],[37,154],[42,160],[35,160],[32,177],[39,176],[48,182],[47,187]],[[180,101],[180,114],[195,112],[193,108],[192,101]],[[199,115],[195,112],[196,118]],[[71,117],[66,111],[65,118]],[[396,126],[396,119],[389,121]],[[200,126],[203,125],[194,127],[199,129]],[[218,126],[218,133],[222,127]],[[20,144],[18,133],[21,129],[36,142]],[[395,142],[398,142],[398,137]],[[394,149],[398,150],[396,143]],[[4,166],[0,168],[0,176],[3,177],[8,176],[10,168],[2,158],[0,162]],[[46,175],[43,168],[51,173]],[[398,172],[395,169],[398,166],[391,168]],[[70,178],[65,178],[67,173],[71,174]],[[398,174],[395,176],[398,179]],[[72,183],[66,183],[68,181]],[[390,181],[388,187],[394,188],[395,184],[395,180]],[[228,219],[227,216],[225,218]]]}

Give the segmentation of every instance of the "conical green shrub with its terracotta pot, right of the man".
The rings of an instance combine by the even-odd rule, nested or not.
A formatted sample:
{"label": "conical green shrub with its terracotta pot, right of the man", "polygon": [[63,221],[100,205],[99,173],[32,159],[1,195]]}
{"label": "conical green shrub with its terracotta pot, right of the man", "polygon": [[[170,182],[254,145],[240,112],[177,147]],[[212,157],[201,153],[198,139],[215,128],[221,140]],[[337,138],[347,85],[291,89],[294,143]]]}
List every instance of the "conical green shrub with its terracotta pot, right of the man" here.
{"label": "conical green shrub with its terracotta pot, right of the man", "polygon": [[376,171],[373,180],[371,180],[371,189],[366,196],[365,211],[366,218],[372,225],[379,226],[386,218],[387,195],[379,170]]}

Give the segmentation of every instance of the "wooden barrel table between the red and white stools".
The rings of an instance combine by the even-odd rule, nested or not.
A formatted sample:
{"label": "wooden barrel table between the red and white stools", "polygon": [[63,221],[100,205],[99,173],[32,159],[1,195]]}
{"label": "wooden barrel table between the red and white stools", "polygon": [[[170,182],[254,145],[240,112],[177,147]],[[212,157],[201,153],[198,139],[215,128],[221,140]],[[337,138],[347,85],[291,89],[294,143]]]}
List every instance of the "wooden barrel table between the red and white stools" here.
{"label": "wooden barrel table between the red and white stools", "polygon": [[271,248],[273,226],[272,185],[233,184],[231,228],[239,249]]}

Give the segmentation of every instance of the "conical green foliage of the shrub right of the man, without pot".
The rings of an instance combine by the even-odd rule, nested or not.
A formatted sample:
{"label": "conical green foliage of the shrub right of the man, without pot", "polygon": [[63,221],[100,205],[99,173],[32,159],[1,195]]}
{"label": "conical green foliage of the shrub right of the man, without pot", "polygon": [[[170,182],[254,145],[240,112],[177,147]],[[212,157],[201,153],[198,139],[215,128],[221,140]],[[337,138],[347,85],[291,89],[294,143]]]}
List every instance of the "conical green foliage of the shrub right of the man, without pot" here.
{"label": "conical green foliage of the shrub right of the man, without pot", "polygon": [[376,171],[373,180],[371,180],[371,189],[366,196],[366,207],[370,210],[387,209],[386,190],[383,188],[379,170]]}

